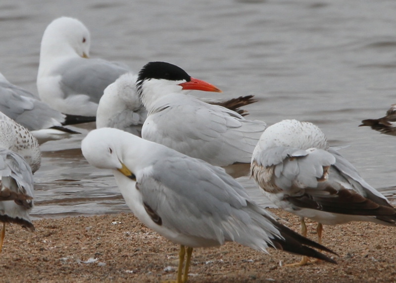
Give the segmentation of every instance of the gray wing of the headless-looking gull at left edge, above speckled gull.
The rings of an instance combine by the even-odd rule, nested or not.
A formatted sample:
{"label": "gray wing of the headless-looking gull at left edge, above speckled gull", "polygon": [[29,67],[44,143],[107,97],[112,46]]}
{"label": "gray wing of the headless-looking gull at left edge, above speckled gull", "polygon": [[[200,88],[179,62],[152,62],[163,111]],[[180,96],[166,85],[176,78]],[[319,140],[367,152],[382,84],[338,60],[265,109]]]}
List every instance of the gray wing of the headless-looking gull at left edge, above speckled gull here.
{"label": "gray wing of the headless-looking gull at left edge, above speckled gull", "polygon": [[3,81],[0,81],[0,111],[29,130],[61,126],[65,118],[30,92]]}

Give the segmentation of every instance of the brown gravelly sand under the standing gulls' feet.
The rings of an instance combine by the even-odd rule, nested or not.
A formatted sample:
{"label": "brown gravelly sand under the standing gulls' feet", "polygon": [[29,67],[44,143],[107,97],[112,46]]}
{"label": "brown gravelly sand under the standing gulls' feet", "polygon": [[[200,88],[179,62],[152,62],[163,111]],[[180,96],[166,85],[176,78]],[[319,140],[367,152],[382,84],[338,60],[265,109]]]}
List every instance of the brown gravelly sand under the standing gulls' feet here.
{"label": "brown gravelly sand under the standing gulls' feet", "polygon": [[[270,209],[299,230],[299,219]],[[14,282],[161,282],[176,279],[179,246],[146,228],[132,214],[42,219],[36,232],[7,226],[0,278]],[[316,239],[316,224],[307,222]],[[338,265],[281,267],[299,256],[269,254],[236,243],[195,249],[191,283],[396,282],[396,228],[371,223],[324,226],[323,243]],[[90,260],[91,259],[91,260]],[[90,263],[90,261],[92,261]]]}

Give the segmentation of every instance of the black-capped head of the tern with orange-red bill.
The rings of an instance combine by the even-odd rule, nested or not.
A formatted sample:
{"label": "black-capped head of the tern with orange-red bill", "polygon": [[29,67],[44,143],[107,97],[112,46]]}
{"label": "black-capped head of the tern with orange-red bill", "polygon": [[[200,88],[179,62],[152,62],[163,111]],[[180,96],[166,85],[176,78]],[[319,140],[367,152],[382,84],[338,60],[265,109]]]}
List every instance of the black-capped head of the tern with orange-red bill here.
{"label": "black-capped head of the tern with orange-red bill", "polygon": [[175,92],[191,90],[221,92],[217,87],[193,78],[182,68],[167,62],[148,62],[140,70],[136,85],[139,97],[145,105],[152,99],[156,100]]}

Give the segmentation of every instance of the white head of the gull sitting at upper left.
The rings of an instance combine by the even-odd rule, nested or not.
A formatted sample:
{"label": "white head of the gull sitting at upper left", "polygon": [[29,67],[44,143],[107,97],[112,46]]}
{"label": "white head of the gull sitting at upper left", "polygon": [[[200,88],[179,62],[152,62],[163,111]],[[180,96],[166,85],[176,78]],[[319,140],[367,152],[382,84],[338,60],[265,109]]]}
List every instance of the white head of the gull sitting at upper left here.
{"label": "white head of the gull sitting at upper left", "polygon": [[91,35],[86,26],[77,19],[60,17],[46,28],[41,41],[42,57],[79,56],[88,58]]}

